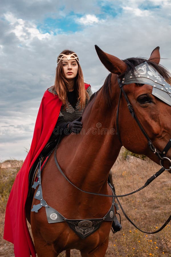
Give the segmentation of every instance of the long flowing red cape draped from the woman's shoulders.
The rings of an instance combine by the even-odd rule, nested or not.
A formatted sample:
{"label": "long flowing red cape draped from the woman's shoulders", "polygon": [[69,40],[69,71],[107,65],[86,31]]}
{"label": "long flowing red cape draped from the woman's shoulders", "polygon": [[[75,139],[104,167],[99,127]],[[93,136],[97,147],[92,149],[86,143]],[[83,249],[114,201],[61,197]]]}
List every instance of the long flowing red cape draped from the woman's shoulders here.
{"label": "long flowing red cape draped from the woman's shoulders", "polygon": [[[85,84],[85,89],[89,85]],[[33,163],[48,142],[58,120],[62,102],[48,90],[38,111],[30,151],[19,170],[9,195],[4,226],[4,239],[14,244],[15,257],[36,257],[27,227],[25,203],[28,194],[28,175]]]}

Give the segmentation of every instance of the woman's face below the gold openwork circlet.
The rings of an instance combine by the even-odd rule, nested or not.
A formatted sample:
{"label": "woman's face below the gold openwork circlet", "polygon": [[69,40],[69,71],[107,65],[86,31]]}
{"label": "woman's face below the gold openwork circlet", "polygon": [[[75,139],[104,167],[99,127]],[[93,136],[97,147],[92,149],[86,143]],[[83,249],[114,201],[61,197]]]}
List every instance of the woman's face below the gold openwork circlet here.
{"label": "woman's face below the gold openwork circlet", "polygon": [[64,75],[66,79],[73,80],[77,76],[78,63],[76,60],[62,60]]}

